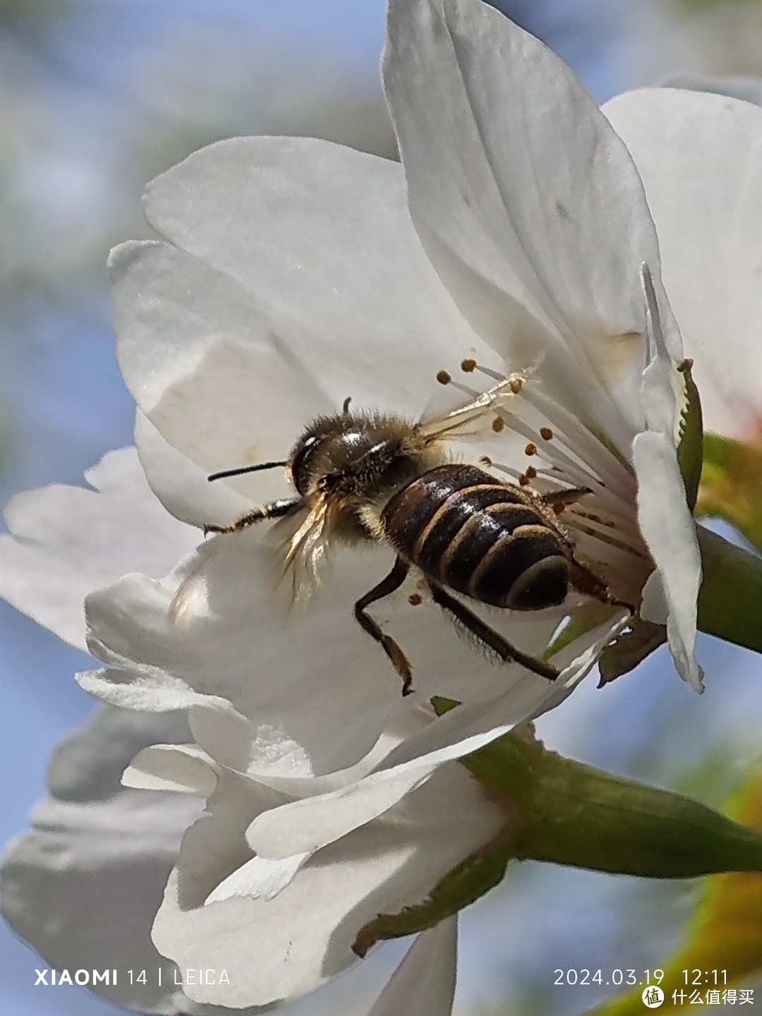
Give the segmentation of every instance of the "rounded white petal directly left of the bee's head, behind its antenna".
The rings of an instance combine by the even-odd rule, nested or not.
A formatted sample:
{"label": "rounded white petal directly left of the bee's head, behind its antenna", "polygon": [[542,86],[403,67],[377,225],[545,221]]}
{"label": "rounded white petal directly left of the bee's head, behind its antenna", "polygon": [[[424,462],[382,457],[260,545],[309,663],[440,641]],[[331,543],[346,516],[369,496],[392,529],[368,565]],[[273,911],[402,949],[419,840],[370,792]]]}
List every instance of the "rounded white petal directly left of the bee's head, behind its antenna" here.
{"label": "rounded white petal directly left of the bee's head, behind its antenna", "polygon": [[[227,275],[158,243],[117,248],[110,269],[127,385],[165,440],[207,473],[282,459],[306,423],[338,409]],[[282,470],[232,486],[263,498],[288,491]]]}

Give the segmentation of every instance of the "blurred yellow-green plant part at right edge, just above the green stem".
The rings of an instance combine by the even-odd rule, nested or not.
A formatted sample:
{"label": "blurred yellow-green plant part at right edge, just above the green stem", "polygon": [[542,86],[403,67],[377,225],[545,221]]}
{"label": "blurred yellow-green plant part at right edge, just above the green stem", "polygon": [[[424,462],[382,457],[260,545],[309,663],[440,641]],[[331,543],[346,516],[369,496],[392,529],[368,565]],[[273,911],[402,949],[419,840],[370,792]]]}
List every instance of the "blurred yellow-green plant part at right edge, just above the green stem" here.
{"label": "blurred yellow-green plant part at right edge, just above the green stem", "polygon": [[725,519],[762,551],[762,445],[704,435],[696,514]]}

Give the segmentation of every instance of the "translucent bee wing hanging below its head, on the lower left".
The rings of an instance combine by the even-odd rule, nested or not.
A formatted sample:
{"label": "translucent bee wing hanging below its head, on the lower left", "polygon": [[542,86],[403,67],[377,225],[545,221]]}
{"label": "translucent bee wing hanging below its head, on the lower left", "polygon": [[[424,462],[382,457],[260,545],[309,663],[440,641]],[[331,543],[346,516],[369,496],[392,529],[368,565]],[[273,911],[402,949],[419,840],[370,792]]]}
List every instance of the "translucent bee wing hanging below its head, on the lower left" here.
{"label": "translucent bee wing hanging below its head, on the lower left", "polygon": [[291,585],[293,602],[307,600],[320,584],[328,563],[334,506],[324,494],[309,494],[279,519],[267,534],[278,558],[278,582]]}

